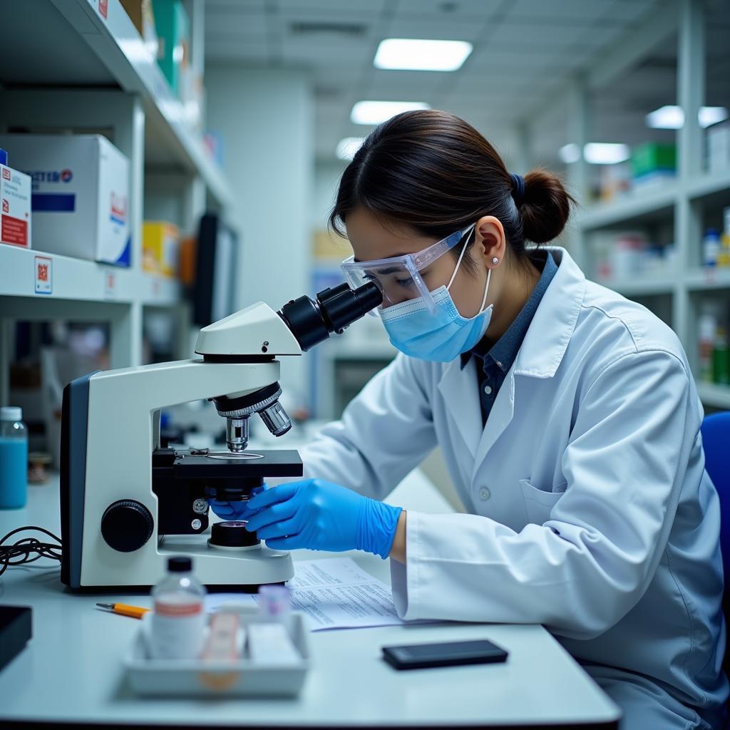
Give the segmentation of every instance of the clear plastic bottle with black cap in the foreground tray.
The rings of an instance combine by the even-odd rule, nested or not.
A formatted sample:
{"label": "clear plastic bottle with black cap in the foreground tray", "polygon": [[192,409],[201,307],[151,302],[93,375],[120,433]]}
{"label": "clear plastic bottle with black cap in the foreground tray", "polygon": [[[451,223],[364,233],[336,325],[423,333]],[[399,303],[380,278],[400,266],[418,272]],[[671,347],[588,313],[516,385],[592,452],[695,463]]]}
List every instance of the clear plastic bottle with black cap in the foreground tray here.
{"label": "clear plastic bottle with black cap in the foreground tray", "polygon": [[152,589],[151,648],[158,659],[196,659],[203,650],[205,588],[191,558],[167,561],[167,575]]}

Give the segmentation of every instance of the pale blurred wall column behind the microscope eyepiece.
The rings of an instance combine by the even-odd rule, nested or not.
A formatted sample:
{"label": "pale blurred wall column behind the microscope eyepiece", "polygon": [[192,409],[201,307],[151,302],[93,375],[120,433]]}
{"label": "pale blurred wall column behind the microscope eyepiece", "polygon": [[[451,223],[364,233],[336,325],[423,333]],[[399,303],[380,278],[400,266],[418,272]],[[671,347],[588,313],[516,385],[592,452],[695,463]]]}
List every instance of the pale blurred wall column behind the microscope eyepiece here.
{"label": "pale blurred wall column behind the microscope eyepiece", "polygon": [[[223,137],[242,233],[237,306],[279,309],[310,293],[314,130],[304,72],[207,66],[207,126]],[[307,355],[283,358],[282,384],[307,397]]]}

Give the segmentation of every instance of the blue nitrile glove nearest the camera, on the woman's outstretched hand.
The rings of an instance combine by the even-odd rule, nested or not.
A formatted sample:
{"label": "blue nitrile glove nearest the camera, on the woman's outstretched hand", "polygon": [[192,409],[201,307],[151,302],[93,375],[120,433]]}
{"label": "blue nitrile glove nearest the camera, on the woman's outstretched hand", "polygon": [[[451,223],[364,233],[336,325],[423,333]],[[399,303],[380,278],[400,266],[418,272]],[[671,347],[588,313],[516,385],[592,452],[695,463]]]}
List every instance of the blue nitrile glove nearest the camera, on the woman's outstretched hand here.
{"label": "blue nitrile glove nearest the camera, on the woman's outstretched hand", "polygon": [[307,479],[257,494],[246,529],[276,550],[391,552],[401,507],[364,497],[347,487]]}

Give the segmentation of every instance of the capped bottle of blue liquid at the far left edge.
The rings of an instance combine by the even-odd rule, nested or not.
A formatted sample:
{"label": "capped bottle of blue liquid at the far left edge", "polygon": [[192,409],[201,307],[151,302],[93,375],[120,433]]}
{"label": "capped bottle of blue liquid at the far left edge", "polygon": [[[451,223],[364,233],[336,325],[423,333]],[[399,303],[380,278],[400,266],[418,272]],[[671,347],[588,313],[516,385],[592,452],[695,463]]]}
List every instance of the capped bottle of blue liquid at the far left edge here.
{"label": "capped bottle of blue liquid at the far left edge", "polygon": [[0,510],[18,510],[28,500],[28,429],[23,409],[0,408]]}

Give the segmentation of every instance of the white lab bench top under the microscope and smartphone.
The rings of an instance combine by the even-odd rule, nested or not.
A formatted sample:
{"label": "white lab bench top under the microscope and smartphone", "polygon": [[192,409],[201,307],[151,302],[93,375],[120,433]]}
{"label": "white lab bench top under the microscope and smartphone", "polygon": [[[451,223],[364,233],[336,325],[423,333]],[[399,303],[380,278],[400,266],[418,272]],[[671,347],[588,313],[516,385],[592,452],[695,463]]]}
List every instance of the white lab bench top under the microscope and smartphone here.
{"label": "white lab bench top under the microscope and smartphone", "polygon": [[[0,512],[0,537],[19,526],[58,533],[58,478],[28,488],[28,507]],[[412,472],[389,501],[452,511]],[[388,561],[345,553],[389,582]],[[295,559],[342,556],[301,550]],[[297,699],[139,699],[122,658],[139,622],[96,610],[97,600],[150,605],[149,595],[74,593],[58,564],[38,561],[0,577],[0,604],[33,609],[33,638],[0,672],[0,725],[158,727],[581,727],[616,728],[620,711],[542,626],[434,623],[312,633],[312,669]],[[506,664],[396,672],[388,644],[491,639]]]}

